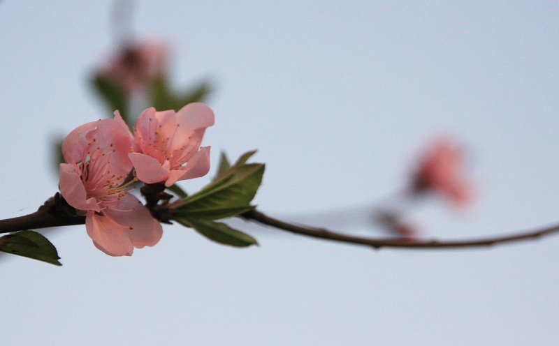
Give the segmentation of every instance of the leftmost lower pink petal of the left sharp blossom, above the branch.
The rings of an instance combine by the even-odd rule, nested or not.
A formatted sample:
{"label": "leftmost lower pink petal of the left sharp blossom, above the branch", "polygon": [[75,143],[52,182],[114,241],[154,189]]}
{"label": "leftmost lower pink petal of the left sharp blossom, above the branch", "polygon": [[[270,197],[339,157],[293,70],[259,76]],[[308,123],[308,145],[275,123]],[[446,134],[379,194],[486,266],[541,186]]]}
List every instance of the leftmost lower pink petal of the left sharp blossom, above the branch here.
{"label": "leftmost lower pink petal of the left sharp blossom, above the branch", "polygon": [[68,163],[60,164],[60,193],[64,200],[75,209],[101,211],[94,197],[87,199],[77,167]]}

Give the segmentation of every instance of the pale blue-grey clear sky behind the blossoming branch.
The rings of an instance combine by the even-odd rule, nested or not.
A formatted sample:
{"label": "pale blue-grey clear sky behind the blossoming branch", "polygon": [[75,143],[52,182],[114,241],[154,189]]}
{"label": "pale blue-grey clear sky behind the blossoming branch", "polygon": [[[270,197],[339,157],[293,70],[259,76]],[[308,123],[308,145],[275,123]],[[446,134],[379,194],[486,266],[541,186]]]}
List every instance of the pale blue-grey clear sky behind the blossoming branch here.
{"label": "pale blue-grey clear sky behind the blossoming branch", "polygon": [[[87,84],[115,49],[111,1],[0,2],[0,218],[57,191],[50,139],[105,117]],[[559,220],[556,1],[137,1],[175,86],[209,79],[204,145],[266,163],[274,216],[363,206],[399,190],[446,135],[477,200],[433,199],[426,234],[469,238]],[[210,176],[185,181],[194,192]],[[316,224],[324,221],[314,218]],[[242,226],[242,224],[240,224]],[[336,227],[343,229],[341,222]],[[345,227],[351,231],[349,223]],[[164,226],[132,257],[85,226],[50,233],[64,266],[3,256],[6,345],[557,345],[559,236],[469,250],[371,250],[246,225],[230,248]],[[382,235],[374,230],[354,230]]]}

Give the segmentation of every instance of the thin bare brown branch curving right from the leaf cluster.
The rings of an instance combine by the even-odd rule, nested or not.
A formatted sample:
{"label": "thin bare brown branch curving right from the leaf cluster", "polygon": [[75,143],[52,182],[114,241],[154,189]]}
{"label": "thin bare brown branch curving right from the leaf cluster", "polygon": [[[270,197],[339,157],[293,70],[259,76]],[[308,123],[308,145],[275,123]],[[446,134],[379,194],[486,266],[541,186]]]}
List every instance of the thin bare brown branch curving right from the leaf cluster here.
{"label": "thin bare brown branch curving right from the leaf cluster", "polygon": [[510,236],[495,236],[485,239],[473,239],[462,241],[437,241],[422,239],[374,239],[364,238],[361,236],[351,236],[326,230],[324,228],[305,227],[301,225],[293,225],[275,218],[270,218],[260,211],[247,211],[241,215],[247,220],[254,220],[263,225],[272,226],[287,232],[300,234],[304,236],[312,236],[314,238],[327,239],[331,241],[341,241],[343,243],[352,243],[364,246],[372,246],[373,248],[474,248],[481,246],[493,246],[502,243],[511,243],[513,241],[523,241],[528,239],[537,239],[540,236],[546,236],[559,232],[559,225],[548,227],[543,230],[521,232]]}

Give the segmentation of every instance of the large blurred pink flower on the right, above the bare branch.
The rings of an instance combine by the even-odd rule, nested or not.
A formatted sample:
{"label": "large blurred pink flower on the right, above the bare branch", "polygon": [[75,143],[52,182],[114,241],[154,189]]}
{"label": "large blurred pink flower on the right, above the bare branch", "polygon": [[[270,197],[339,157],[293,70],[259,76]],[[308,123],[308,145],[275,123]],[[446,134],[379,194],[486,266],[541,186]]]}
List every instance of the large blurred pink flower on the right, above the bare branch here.
{"label": "large blurred pink flower on the right, above the bare branch", "polygon": [[472,187],[463,178],[462,155],[446,140],[433,143],[419,162],[413,176],[415,193],[433,190],[447,197],[457,206],[472,200]]}

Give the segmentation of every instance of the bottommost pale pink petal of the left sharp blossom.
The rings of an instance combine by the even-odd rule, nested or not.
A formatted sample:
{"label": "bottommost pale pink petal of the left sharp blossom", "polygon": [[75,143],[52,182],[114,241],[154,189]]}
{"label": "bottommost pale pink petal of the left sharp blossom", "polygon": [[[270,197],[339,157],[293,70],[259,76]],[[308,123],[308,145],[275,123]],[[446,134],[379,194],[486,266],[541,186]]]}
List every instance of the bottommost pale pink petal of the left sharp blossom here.
{"label": "bottommost pale pink petal of the left sharp blossom", "polygon": [[108,216],[88,211],[85,216],[87,235],[99,250],[110,256],[131,256],[134,250],[126,227],[115,223]]}

